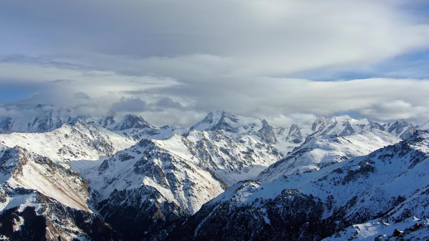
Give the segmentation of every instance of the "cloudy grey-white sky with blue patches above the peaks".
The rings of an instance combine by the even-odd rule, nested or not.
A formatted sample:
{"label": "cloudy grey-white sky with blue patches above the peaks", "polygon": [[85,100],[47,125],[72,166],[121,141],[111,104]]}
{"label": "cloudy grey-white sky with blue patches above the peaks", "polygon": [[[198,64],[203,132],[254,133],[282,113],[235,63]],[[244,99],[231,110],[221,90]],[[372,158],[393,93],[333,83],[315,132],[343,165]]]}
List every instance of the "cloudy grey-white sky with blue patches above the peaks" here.
{"label": "cloudy grey-white sky with blue patches above the peaks", "polygon": [[213,110],[275,127],[429,120],[423,0],[6,0],[0,41],[0,116],[54,104],[185,128]]}

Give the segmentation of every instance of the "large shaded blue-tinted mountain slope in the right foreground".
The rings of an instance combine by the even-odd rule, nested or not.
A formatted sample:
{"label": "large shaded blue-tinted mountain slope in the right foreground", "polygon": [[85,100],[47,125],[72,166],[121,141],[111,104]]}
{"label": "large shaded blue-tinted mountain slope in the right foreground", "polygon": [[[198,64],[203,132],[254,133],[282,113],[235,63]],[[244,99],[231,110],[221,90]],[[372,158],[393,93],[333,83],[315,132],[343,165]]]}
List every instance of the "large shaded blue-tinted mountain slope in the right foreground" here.
{"label": "large shaded blue-tinted mountain slope in the right foreground", "polygon": [[[167,240],[320,240],[374,219],[399,226],[427,217],[428,175],[429,133],[417,131],[406,141],[311,173],[242,181],[170,230],[176,235]],[[411,238],[408,231],[404,235]],[[359,231],[351,239],[343,232],[333,237],[360,237]]]}

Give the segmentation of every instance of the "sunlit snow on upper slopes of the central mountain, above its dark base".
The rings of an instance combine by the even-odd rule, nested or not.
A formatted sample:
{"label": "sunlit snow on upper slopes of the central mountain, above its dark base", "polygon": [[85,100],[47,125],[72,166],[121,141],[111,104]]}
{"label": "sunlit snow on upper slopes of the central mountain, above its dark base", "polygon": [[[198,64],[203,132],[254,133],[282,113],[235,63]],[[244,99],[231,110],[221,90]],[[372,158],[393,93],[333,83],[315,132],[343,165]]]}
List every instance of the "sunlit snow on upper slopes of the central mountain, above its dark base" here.
{"label": "sunlit snow on upper slopes of the central mountain, above its dark base", "polygon": [[[212,131],[174,134],[165,140],[142,140],[81,174],[88,179],[91,189],[100,193],[101,199],[108,198],[115,189],[131,190],[147,185],[193,214],[224,191],[221,181],[232,185],[254,178],[280,158],[272,154],[272,147],[252,137],[243,136],[240,140],[236,142]],[[249,148],[253,151],[248,152]],[[127,160],[121,161],[123,156]],[[104,167],[108,169],[101,171]],[[140,173],[136,172],[137,167],[149,170]]]}

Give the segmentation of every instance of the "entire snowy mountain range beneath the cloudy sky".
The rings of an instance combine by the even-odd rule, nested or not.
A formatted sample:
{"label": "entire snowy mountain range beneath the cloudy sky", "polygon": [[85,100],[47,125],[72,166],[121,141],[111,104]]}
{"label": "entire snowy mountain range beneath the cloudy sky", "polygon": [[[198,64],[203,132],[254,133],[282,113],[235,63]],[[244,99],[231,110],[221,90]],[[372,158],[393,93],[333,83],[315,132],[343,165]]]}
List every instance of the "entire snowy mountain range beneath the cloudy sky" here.
{"label": "entire snowy mountain range beneath the cloudy sky", "polygon": [[24,107],[33,114],[0,121],[3,240],[429,235],[428,122],[272,127],[215,111],[187,130]]}

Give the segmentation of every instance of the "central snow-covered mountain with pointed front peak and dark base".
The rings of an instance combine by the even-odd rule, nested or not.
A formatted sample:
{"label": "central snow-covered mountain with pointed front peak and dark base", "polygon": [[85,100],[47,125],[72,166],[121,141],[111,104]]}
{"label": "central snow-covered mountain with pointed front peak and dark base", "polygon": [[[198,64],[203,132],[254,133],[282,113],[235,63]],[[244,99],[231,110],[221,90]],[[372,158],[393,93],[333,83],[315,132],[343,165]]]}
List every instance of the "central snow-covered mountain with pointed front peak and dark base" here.
{"label": "central snow-covered mountain with pointed front peak and dark base", "polygon": [[[231,140],[217,131],[194,130],[165,140],[143,139],[82,175],[97,193],[97,211],[135,237],[154,223],[195,213],[228,186],[255,178],[281,157],[250,136]],[[124,220],[144,225],[121,226]]]}

